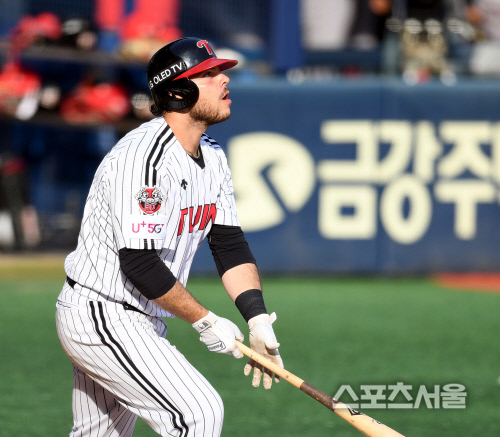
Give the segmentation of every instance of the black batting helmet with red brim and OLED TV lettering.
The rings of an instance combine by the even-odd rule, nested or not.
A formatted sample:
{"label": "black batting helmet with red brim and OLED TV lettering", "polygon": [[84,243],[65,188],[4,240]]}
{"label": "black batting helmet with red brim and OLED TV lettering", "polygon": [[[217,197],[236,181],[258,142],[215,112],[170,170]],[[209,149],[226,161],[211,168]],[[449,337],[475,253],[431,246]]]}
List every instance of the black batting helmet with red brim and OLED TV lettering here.
{"label": "black batting helmet with red brim and OLED TV lettering", "polygon": [[181,38],[158,50],[147,68],[148,85],[155,104],[154,115],[186,109],[198,100],[199,90],[190,76],[219,67],[234,67],[238,61],[219,59],[206,40]]}

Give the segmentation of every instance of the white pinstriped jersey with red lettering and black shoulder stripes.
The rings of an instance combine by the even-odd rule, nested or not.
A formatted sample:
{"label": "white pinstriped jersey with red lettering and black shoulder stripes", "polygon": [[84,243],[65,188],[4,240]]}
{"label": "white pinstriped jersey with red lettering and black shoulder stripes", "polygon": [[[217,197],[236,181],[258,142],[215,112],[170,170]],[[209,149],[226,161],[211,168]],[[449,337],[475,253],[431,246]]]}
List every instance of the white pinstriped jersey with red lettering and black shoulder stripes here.
{"label": "white pinstriped jersey with red lettering and black shoulder stripes", "polygon": [[126,302],[153,316],[170,316],[125,277],[118,251],[155,248],[185,286],[212,225],[239,226],[223,150],[205,134],[200,150],[204,168],[163,118],[144,123],[111,149],[92,182],[77,248],[66,258],[66,273],[77,284],[72,292],[65,287],[61,301]]}

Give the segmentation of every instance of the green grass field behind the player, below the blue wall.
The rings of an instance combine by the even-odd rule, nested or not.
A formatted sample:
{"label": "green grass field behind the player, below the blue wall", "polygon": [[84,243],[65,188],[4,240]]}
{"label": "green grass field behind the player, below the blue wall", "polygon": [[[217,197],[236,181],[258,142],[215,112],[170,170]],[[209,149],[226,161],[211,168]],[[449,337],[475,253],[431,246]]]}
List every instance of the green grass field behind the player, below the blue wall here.
{"label": "green grass field behind the player, below the blue wall", "polygon": [[[0,260],[1,437],[64,436],[72,426],[72,369],[54,326],[64,274],[52,261]],[[247,333],[218,279],[193,278],[188,288]],[[362,386],[404,382],[415,398],[420,386],[431,392],[462,384],[465,409],[425,402],[418,409],[360,409],[408,437],[500,435],[500,347],[493,339],[499,294],[449,290],[423,278],[264,277],[264,290],[290,372],[330,395],[342,385],[361,396]],[[285,381],[269,392],[253,388],[244,360],[210,353],[185,322],[168,323],[167,337],[225,402],[223,436],[361,435]],[[137,422],[134,437],[154,435]]]}

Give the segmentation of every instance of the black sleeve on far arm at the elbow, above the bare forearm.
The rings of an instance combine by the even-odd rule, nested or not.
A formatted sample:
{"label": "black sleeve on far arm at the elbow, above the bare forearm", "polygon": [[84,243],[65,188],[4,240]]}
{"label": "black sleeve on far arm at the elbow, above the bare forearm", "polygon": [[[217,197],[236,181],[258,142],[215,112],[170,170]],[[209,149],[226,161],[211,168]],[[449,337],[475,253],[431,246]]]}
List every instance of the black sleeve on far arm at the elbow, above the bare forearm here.
{"label": "black sleeve on far arm at the elbow, above the bare forearm", "polygon": [[256,264],[239,226],[213,225],[208,233],[208,245],[221,277],[229,269],[240,264]]}

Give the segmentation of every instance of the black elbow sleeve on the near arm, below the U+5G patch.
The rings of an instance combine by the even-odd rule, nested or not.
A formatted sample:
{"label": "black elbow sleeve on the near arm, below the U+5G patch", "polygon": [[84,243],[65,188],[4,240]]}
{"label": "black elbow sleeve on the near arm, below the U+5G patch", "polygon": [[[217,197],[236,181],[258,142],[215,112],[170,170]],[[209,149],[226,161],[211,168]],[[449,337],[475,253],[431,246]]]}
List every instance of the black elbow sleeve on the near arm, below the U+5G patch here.
{"label": "black elbow sleeve on the near arm, below the U+5G patch", "polygon": [[177,279],[156,250],[123,248],[118,254],[122,272],[148,299],[163,296],[175,285]]}

